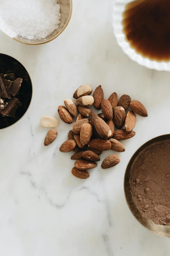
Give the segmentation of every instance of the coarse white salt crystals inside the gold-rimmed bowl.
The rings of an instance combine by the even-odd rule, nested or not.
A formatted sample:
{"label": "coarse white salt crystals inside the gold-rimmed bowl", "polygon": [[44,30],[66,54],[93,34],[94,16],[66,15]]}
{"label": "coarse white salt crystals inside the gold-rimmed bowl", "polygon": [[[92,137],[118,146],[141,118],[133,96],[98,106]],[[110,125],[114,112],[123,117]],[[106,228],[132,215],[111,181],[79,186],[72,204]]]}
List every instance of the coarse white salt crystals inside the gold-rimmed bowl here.
{"label": "coarse white salt crystals inside the gold-rimmed bowl", "polygon": [[0,0],[0,15],[17,35],[30,40],[49,36],[61,17],[56,0]]}

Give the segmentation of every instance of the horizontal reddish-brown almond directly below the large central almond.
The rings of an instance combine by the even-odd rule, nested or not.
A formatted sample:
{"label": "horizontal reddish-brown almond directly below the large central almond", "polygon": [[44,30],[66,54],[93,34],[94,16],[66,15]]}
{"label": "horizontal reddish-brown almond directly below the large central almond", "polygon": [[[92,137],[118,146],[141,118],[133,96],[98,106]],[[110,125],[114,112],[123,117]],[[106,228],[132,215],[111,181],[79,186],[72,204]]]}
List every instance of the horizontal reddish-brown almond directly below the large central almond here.
{"label": "horizontal reddish-brown almond directly below the large central almond", "polygon": [[111,148],[111,142],[106,139],[93,139],[89,141],[88,146],[97,150],[106,151]]}

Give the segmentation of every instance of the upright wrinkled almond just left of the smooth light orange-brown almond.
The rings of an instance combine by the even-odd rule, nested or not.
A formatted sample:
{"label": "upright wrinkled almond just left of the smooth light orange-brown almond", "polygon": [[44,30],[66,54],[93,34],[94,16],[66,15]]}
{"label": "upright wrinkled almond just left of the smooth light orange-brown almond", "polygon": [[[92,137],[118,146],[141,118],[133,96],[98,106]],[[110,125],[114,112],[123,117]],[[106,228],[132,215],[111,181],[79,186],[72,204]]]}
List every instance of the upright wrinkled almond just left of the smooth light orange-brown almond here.
{"label": "upright wrinkled almond just left of the smooth light orange-brown almond", "polygon": [[124,125],[126,113],[123,107],[116,107],[113,109],[113,120],[115,126],[120,129]]}

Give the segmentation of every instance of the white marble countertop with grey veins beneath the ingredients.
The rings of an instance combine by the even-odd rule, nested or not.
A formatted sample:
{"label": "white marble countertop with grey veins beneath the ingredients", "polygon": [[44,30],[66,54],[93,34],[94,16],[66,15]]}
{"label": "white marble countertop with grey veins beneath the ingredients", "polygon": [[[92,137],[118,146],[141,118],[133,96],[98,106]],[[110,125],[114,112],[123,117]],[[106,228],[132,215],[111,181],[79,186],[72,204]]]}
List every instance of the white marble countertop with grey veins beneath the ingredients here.
{"label": "white marble countertop with grey veins beneath the ingredients", "polygon": [[[111,0],[73,0],[65,31],[43,45],[24,45],[0,32],[0,51],[21,61],[33,82],[33,100],[16,125],[0,130],[0,255],[168,256],[169,239],[143,228],[124,196],[128,161],[147,140],[170,132],[170,73],[141,67],[116,44]],[[105,98],[117,92],[141,101],[148,118],[137,116],[134,138],[124,141],[120,164],[71,174],[72,153],[61,153],[71,125],[61,120],[56,141],[44,147],[44,115],[82,84],[99,84]],[[103,160],[108,155],[101,155]]]}

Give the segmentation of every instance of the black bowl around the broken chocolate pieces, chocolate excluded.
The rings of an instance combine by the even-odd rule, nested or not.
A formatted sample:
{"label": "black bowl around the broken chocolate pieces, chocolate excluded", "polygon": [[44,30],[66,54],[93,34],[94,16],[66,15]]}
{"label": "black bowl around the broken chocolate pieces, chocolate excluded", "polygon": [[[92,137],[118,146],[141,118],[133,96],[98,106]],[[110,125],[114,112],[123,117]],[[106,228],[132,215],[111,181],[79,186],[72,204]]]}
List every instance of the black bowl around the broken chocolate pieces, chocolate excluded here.
{"label": "black bowl around the broken chocolate pieces, chocolate excluded", "polygon": [[24,66],[16,59],[6,54],[0,53],[0,74],[15,73],[15,77],[23,79],[19,94],[16,95],[22,102],[22,107],[18,108],[15,117],[0,117],[0,129],[7,128],[15,124],[27,111],[32,98],[31,78]]}

